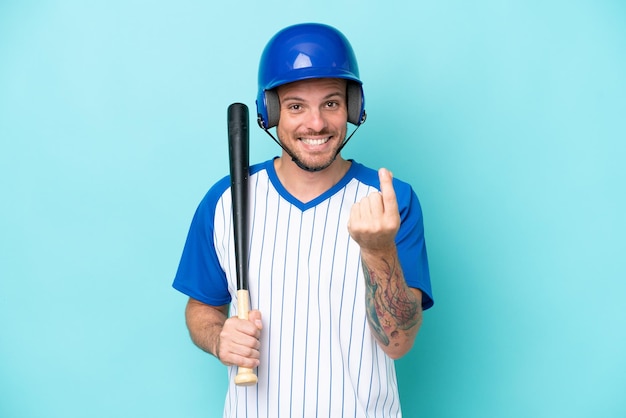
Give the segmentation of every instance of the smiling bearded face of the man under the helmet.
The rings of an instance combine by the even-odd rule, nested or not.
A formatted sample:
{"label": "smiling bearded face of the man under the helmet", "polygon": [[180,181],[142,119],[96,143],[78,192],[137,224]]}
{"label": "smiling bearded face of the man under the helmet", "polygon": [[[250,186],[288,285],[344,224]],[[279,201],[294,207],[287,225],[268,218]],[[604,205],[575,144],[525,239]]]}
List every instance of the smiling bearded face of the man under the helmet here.
{"label": "smiling bearded face of the man under the helmet", "polygon": [[320,78],[278,87],[278,138],[309,171],[329,167],[346,137],[346,80]]}

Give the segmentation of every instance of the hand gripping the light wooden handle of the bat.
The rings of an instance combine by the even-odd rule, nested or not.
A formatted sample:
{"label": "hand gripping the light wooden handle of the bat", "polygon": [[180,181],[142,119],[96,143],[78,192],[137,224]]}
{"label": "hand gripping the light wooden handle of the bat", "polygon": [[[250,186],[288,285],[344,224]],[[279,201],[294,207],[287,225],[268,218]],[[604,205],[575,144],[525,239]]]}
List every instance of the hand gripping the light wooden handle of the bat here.
{"label": "hand gripping the light wooden handle of the bat", "polygon": [[262,328],[261,312],[257,310],[248,312],[248,319],[228,318],[220,332],[217,358],[227,366],[257,367]]}

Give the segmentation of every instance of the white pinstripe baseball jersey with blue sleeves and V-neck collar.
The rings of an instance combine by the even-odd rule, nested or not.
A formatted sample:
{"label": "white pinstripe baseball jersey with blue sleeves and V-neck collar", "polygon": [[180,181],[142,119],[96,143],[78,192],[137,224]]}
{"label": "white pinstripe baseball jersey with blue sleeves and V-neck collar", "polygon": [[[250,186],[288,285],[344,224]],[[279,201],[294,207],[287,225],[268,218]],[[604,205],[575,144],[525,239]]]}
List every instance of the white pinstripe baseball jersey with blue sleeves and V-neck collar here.
{"label": "white pinstripe baseball jersey with blue sleeves and V-neck collar", "polygon": [[[351,206],[378,190],[378,174],[352,162],[346,176],[302,203],[280,184],[273,161],[251,167],[249,290],[263,316],[259,383],[237,387],[229,368],[224,417],[399,417],[394,362],[367,324]],[[422,214],[415,193],[394,180],[402,226],[396,242],[407,283],[432,305]],[[230,180],[202,201],[174,287],[204,303],[231,303],[236,274]]]}

